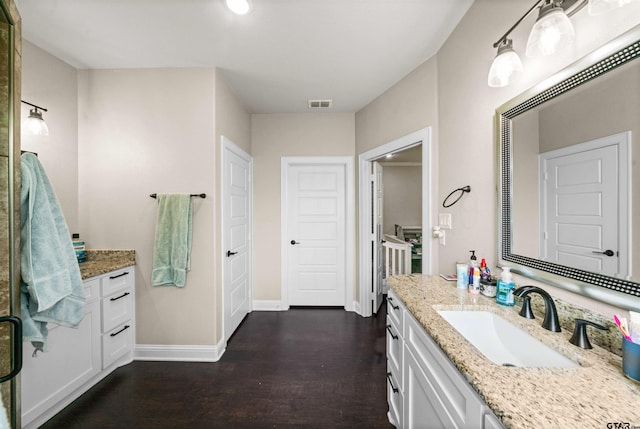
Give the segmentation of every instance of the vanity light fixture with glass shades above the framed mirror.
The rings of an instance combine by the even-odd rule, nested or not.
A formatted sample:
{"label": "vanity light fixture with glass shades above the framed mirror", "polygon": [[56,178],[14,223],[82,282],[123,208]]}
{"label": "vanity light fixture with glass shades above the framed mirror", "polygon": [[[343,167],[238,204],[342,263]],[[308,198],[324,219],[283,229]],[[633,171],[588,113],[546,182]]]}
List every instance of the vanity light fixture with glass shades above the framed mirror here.
{"label": "vanity light fixture with glass shades above the framed mirror", "polygon": [[[527,57],[552,55],[571,45],[575,39],[575,32],[570,16],[589,5],[589,14],[596,15],[608,10],[625,6],[637,0],[537,0],[534,5],[518,20],[496,43],[498,48],[491,68],[489,69],[488,84],[499,88],[507,86],[516,72],[522,71],[520,57],[513,49],[513,41],[507,36],[528,17],[536,8],[539,9],[529,39],[527,41]],[[541,4],[542,3],[542,4]]]}

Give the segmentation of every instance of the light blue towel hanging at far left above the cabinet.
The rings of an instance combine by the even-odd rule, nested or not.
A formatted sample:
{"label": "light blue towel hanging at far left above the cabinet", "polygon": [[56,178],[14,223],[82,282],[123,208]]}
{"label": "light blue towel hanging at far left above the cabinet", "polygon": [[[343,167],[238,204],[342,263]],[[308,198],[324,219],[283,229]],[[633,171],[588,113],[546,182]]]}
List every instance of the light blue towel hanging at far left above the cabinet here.
{"label": "light blue towel hanging at far left above the cabinet", "polygon": [[20,173],[23,334],[45,350],[47,322],[76,327],[84,318],[84,289],[69,228],[42,164],[25,153]]}

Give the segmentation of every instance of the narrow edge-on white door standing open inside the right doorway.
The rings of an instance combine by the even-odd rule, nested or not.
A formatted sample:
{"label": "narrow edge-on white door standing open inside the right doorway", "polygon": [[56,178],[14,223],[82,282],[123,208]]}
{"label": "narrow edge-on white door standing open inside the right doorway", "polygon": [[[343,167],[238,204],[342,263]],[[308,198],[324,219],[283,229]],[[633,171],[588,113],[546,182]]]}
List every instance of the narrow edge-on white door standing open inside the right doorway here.
{"label": "narrow edge-on white door standing open inside the right doorway", "polygon": [[383,214],[384,214],[384,189],[382,186],[382,174],[383,169],[382,165],[379,162],[373,162],[373,180],[371,182],[372,186],[372,232],[374,234],[373,237],[373,268],[374,273],[371,276],[373,279],[373,284],[371,286],[371,292],[373,297],[373,312],[377,313],[380,308],[380,304],[382,304],[382,293],[384,286],[384,234],[382,231],[383,223]]}

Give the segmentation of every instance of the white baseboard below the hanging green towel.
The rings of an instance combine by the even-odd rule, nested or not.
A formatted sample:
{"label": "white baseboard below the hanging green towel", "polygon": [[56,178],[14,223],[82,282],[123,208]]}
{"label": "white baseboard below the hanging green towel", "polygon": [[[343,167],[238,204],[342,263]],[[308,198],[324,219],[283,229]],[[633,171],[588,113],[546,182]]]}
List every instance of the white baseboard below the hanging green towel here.
{"label": "white baseboard below the hanging green towel", "polygon": [[135,360],[217,362],[226,350],[224,339],[215,346],[136,344]]}

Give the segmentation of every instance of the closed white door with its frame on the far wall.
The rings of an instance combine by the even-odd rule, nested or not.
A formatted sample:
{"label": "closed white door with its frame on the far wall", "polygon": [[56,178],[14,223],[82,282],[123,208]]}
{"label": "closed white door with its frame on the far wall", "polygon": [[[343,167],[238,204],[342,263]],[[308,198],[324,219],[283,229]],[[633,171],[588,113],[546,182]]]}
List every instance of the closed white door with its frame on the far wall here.
{"label": "closed white door with its frame on the far wall", "polygon": [[282,308],[353,303],[353,160],[282,158]]}

